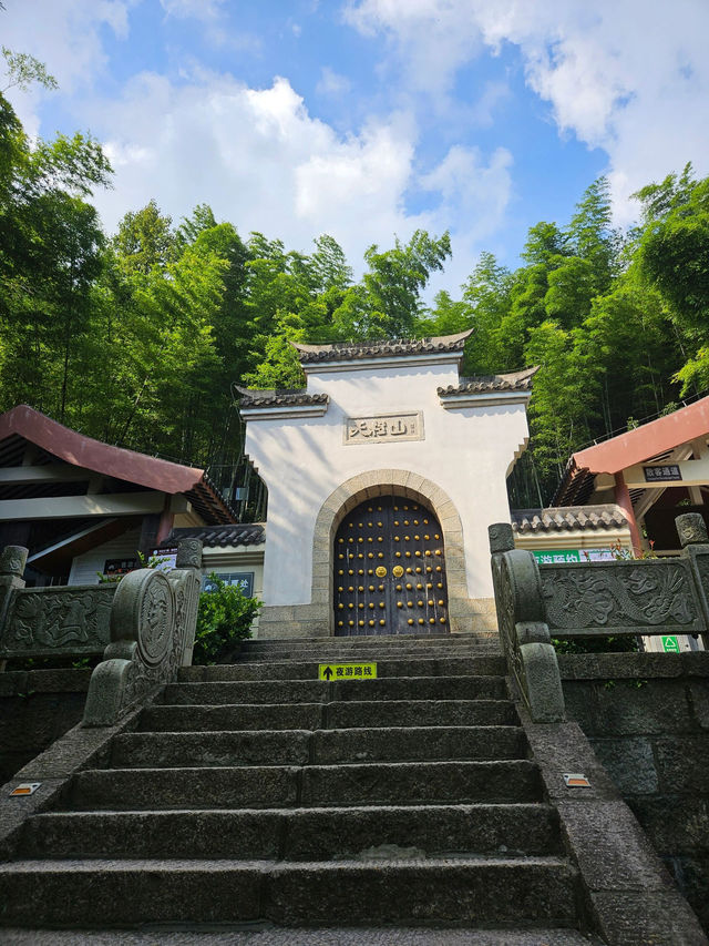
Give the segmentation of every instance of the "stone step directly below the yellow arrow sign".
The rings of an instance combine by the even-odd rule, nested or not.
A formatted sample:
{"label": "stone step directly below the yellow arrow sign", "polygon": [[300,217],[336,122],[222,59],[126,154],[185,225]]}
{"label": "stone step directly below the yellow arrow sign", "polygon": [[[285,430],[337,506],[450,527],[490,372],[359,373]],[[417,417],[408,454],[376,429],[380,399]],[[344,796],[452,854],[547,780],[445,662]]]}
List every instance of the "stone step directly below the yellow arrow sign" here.
{"label": "stone step directly below the yellow arrow sign", "polygon": [[364,700],[504,700],[502,677],[401,677],[382,680],[239,680],[175,683],[165,689],[169,705],[227,703],[325,703]]}

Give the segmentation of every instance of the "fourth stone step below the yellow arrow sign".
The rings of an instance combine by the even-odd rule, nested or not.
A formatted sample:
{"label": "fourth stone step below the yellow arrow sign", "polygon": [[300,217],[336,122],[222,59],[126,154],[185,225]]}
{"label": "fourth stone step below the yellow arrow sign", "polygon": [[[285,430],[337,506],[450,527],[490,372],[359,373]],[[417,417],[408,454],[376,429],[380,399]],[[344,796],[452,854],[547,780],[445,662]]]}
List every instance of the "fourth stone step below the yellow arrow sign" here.
{"label": "fourth stone step below the yellow arrow sign", "polygon": [[69,806],[81,811],[536,802],[528,760],[371,762],[347,765],[249,765],[112,769],[80,772]]}

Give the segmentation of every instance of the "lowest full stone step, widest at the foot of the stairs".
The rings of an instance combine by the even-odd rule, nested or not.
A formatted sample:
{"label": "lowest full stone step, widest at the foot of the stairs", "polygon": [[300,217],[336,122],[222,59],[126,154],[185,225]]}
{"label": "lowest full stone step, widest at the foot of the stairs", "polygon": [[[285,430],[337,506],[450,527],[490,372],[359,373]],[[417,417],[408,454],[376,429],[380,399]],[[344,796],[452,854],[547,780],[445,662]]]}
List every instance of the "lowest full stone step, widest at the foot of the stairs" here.
{"label": "lowest full stone step, widest at the foot of the stairs", "polygon": [[[574,926],[576,872],[555,857],[274,864],[20,861],[0,865],[6,925]],[[292,942],[297,942],[294,939]],[[534,942],[534,940],[532,940]]]}

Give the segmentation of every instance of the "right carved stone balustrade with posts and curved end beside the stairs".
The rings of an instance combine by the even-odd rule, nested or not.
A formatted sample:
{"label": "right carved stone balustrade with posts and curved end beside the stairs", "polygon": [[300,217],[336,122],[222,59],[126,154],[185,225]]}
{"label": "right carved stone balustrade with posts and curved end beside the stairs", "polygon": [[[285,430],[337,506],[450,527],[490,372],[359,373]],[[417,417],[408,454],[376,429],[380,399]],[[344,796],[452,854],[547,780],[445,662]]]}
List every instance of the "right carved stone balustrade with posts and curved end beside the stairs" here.
{"label": "right carved stone balustrade with posts and curved end beside the stairs", "polygon": [[535,722],[565,719],[552,637],[706,634],[709,538],[702,517],[678,516],[679,558],[538,564],[512,527],[489,529],[497,627],[510,672]]}

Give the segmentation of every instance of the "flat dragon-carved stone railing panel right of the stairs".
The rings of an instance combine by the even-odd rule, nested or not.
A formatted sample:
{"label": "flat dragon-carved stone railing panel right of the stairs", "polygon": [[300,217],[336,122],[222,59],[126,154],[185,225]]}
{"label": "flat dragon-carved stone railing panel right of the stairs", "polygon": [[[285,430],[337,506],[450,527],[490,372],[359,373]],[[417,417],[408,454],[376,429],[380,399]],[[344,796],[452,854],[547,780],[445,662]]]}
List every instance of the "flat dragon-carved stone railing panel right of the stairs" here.
{"label": "flat dragon-carved stone railing panel right of the stairs", "polygon": [[542,564],[540,573],[546,623],[564,637],[705,630],[687,560]]}

